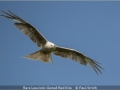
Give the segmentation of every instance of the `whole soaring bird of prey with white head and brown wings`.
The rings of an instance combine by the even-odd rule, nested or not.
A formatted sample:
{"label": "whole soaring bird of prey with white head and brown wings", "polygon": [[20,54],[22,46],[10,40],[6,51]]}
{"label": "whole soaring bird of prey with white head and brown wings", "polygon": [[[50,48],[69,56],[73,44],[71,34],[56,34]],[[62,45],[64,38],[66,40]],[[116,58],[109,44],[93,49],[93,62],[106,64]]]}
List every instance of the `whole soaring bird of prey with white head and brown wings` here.
{"label": "whole soaring bird of prey with white head and brown wings", "polygon": [[102,74],[100,69],[103,68],[97,61],[92,60],[91,58],[74,49],[59,47],[55,45],[54,43],[48,41],[34,26],[21,19],[17,15],[13,14],[11,11],[9,11],[9,13],[6,13],[4,11],[2,12],[4,15],[0,16],[15,20],[16,22],[14,25],[19,28],[25,35],[27,35],[34,43],[36,43],[38,47],[41,48],[40,50],[25,56],[25,58],[53,63],[51,58],[51,53],[53,53],[54,55],[61,56],[63,58],[72,59],[82,65],[89,64],[97,74],[98,72]]}

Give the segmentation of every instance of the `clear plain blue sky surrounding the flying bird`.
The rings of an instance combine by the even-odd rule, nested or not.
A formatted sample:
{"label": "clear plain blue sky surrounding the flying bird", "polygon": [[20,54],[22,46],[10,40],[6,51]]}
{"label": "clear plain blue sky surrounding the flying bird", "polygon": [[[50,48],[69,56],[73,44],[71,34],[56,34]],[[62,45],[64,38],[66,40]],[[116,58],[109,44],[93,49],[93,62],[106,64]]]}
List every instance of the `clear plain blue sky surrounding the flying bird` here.
{"label": "clear plain blue sky surrounding the flying bird", "polygon": [[[26,20],[58,46],[102,63],[90,66],[52,54],[50,63],[25,58],[40,48],[0,17],[0,85],[120,85],[120,2],[2,2],[0,9]],[[0,12],[0,14],[3,14]]]}

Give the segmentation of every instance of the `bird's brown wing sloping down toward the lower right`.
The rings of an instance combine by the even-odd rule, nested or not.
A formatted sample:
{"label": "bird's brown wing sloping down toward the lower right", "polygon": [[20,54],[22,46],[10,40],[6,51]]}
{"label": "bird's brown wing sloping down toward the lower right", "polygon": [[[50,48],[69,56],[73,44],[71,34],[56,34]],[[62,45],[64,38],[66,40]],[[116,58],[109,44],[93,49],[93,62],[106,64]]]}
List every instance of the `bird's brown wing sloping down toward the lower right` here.
{"label": "bird's brown wing sloping down toward the lower right", "polygon": [[100,72],[102,74],[100,69],[103,69],[103,68],[99,65],[100,63],[90,59],[89,57],[83,55],[82,53],[80,53],[76,50],[56,46],[56,49],[54,50],[53,53],[55,55],[61,56],[63,58],[70,58],[72,60],[75,60],[76,62],[79,62],[80,64],[83,64],[83,65],[89,64],[95,70],[95,72],[97,74],[98,74],[98,72]]}

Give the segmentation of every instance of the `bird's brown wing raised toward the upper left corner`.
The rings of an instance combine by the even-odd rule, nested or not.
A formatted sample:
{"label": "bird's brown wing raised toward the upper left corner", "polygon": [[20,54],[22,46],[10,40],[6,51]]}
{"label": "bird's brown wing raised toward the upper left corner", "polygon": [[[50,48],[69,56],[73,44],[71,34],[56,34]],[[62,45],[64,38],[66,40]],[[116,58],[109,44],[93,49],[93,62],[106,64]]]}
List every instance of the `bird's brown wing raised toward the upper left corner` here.
{"label": "bird's brown wing raised toward the upper left corner", "polygon": [[21,19],[20,17],[18,17],[17,15],[13,14],[10,11],[9,13],[6,13],[4,11],[2,12],[5,15],[0,16],[17,21],[14,23],[14,25],[17,28],[19,28],[25,35],[27,35],[33,42],[35,42],[38,45],[38,47],[42,47],[46,44],[47,40],[35,27],[33,27],[28,22],[24,21],[23,19]]}

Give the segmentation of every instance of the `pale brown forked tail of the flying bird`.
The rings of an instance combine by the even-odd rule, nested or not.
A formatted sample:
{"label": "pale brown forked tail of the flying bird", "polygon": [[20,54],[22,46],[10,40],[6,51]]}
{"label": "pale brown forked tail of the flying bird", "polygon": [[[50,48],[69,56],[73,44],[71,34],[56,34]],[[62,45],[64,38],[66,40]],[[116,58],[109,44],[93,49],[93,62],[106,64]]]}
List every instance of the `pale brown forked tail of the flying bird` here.
{"label": "pale brown forked tail of the flying bird", "polygon": [[44,54],[40,50],[32,54],[29,54],[27,56],[24,56],[23,58],[28,58],[32,60],[41,60],[43,62],[50,62],[53,64],[51,54]]}

